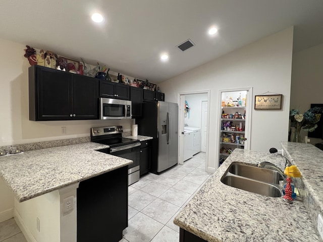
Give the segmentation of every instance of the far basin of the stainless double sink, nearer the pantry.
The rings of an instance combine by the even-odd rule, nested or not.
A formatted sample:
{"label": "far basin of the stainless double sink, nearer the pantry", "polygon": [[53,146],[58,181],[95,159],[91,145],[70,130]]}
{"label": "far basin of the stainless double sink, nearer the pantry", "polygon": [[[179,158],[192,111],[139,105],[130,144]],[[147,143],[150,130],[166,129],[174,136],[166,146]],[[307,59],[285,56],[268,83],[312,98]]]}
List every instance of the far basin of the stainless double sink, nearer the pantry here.
{"label": "far basin of the stainless double sink, nearer the pantry", "polygon": [[279,184],[279,181],[284,179],[284,177],[282,177],[281,174],[276,170],[235,162],[229,166],[228,171],[235,175],[261,180],[265,183]]}

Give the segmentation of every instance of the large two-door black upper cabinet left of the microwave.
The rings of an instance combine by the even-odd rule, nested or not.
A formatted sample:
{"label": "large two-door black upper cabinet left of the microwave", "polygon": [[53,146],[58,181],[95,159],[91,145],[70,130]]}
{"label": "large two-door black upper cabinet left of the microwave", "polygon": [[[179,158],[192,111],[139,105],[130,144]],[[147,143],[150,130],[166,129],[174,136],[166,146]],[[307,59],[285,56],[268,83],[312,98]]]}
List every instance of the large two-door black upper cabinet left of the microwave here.
{"label": "large two-door black upper cabinet left of the microwave", "polygon": [[29,119],[98,119],[98,80],[40,66],[29,68]]}

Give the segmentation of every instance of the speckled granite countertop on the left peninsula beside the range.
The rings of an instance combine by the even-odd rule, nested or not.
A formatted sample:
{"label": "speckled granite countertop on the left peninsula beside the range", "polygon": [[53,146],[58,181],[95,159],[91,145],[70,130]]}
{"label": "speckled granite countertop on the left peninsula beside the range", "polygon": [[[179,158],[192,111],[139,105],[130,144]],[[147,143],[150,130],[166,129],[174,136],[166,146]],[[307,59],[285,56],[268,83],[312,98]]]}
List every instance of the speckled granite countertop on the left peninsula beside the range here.
{"label": "speckled granite countertop on the left peninsula beside the range", "polygon": [[0,176],[19,202],[118,169],[133,161],[98,152],[93,142],[0,157]]}

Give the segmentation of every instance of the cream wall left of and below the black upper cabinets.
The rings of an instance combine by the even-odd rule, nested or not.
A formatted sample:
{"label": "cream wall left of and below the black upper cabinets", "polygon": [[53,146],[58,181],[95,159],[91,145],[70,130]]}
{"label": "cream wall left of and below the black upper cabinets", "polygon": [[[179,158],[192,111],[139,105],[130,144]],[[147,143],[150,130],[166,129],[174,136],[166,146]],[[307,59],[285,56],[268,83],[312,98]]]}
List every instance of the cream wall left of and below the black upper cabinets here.
{"label": "cream wall left of and below the black upper cabinets", "polygon": [[[24,57],[26,46],[4,39],[0,39],[0,46],[2,54],[0,58],[0,147],[88,137],[91,127],[122,125],[126,131],[131,129],[131,119],[30,121],[28,110],[28,67],[30,65]],[[61,127],[67,128],[66,135],[61,134]],[[13,195],[0,179],[0,221],[13,207]]]}

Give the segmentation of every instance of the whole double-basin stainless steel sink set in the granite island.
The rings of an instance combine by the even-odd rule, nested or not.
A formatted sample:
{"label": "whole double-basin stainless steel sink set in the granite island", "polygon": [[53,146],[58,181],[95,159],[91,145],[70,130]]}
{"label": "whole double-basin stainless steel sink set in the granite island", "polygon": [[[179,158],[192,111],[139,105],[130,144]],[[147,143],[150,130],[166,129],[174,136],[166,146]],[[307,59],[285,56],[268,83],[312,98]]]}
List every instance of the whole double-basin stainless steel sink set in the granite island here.
{"label": "whole double-basin stainless steel sink set in the granite island", "polygon": [[279,181],[283,179],[275,170],[233,162],[221,182],[247,192],[276,198],[282,196]]}

